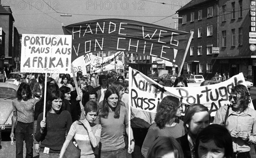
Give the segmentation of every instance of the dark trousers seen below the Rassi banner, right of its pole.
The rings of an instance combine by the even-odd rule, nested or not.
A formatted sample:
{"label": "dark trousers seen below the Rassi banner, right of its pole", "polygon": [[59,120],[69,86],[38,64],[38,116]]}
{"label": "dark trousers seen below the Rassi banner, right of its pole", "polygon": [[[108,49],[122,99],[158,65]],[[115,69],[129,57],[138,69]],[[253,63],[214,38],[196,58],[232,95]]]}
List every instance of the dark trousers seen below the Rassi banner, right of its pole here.
{"label": "dark trousers seen below the Rassi banner, right of its pole", "polygon": [[143,155],[141,155],[141,147],[148,133],[148,128],[134,128],[134,127],[131,127],[131,128],[132,128],[132,131],[134,134],[134,140],[135,140],[134,152],[131,153],[131,157],[143,158]]}

